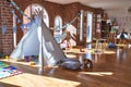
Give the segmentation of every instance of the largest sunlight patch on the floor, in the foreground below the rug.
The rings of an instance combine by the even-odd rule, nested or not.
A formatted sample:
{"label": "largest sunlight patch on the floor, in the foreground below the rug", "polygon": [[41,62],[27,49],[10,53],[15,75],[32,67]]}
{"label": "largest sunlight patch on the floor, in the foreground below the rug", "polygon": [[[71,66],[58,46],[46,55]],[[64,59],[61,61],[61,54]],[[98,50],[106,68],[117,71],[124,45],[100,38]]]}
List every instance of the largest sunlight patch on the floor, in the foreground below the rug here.
{"label": "largest sunlight patch on the floor, in the foreground below the rug", "polygon": [[81,83],[70,79],[40,76],[28,73],[3,78],[1,79],[1,83],[16,85],[20,87],[78,87],[81,85]]}

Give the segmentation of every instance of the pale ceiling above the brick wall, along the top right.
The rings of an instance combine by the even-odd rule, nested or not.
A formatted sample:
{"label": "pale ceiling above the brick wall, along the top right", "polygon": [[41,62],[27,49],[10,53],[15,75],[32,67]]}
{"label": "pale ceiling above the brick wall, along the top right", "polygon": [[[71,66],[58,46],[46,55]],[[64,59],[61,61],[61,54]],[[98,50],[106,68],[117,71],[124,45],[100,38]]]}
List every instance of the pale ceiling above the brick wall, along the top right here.
{"label": "pale ceiling above the brick wall, along the top right", "polygon": [[81,2],[82,4],[88,7],[102,9],[122,9],[131,7],[131,0],[46,0],[46,1],[61,4]]}

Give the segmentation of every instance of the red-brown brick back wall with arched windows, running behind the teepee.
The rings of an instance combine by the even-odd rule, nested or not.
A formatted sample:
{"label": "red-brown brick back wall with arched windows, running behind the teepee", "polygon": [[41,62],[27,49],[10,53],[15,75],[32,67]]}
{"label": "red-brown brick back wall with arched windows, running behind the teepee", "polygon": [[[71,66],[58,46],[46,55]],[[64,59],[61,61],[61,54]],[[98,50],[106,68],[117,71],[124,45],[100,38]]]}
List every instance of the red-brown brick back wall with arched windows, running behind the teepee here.
{"label": "red-brown brick back wall with arched windows, running behind the teepee", "polygon": [[[103,13],[104,11],[102,9],[94,9],[86,5],[83,5],[79,2],[69,3],[69,4],[58,4],[52,3],[44,0],[14,0],[16,4],[24,11],[31,3],[37,3],[44,7],[49,15],[49,26],[53,27],[55,24],[55,17],[57,15],[60,15],[62,17],[63,24],[67,22],[70,22],[72,18],[74,18],[80,10],[84,11],[92,11],[94,13]],[[20,12],[16,12],[16,14],[23,18],[23,16],[20,14]],[[73,23],[75,27],[78,27],[78,21]],[[17,40],[21,39],[23,36],[23,33],[19,29],[19,36]]]}

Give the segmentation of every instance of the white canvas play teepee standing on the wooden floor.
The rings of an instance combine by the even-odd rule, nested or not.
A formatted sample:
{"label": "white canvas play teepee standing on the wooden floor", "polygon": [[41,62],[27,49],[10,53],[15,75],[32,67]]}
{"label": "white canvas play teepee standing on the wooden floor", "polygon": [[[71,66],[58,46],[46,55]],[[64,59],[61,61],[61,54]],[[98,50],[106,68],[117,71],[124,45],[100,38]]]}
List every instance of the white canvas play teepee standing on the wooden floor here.
{"label": "white canvas play teepee standing on the wooden floor", "polygon": [[44,65],[56,64],[64,60],[66,55],[52,37],[52,34],[37,15],[31,29],[23,36],[17,47],[13,50],[10,58],[24,59],[25,55],[36,55]]}

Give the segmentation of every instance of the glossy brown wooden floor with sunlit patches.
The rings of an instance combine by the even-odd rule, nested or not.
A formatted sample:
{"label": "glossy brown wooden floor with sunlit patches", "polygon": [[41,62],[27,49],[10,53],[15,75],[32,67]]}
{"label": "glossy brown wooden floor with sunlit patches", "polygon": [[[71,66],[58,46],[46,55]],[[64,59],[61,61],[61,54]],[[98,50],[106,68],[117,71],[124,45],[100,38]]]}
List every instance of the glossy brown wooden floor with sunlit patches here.
{"label": "glossy brown wooden floor with sunlit patches", "polygon": [[109,52],[72,54],[91,59],[93,69],[70,71],[57,66],[45,67],[44,75],[38,75],[38,66],[8,61],[24,73],[0,79],[0,87],[131,87],[131,49],[107,51]]}

